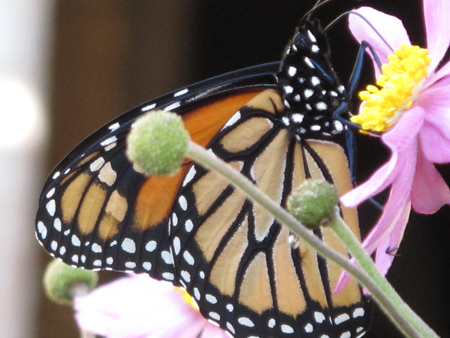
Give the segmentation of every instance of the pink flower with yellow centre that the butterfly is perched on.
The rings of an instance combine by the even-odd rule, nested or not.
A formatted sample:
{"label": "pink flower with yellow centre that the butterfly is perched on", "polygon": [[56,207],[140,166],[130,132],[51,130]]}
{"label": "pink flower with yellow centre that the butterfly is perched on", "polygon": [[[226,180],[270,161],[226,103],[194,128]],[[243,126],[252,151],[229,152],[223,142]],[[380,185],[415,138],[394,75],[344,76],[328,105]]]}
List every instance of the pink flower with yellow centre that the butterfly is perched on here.
{"label": "pink flower with yellow centre that the butterfly is perched on", "polygon": [[[385,92],[391,90],[396,81],[402,87],[400,91],[409,93],[405,96],[405,100],[398,102],[395,95],[387,99],[383,96],[383,104],[395,101],[398,105],[395,109],[391,109],[393,115],[385,119],[384,126],[378,125],[377,128],[380,129],[372,129],[387,130],[381,140],[391,150],[391,157],[369,180],[341,198],[345,206],[356,207],[391,187],[380,219],[363,241],[363,246],[369,254],[376,252],[375,263],[383,274],[387,273],[394,259],[391,251],[395,253],[400,246],[411,206],[418,213],[431,214],[443,205],[450,204],[449,187],[434,167],[434,163],[450,163],[450,62],[438,68],[450,44],[448,29],[450,2],[423,0],[423,8],[428,55],[427,50],[418,51],[420,49],[418,47],[411,48],[411,50],[415,48],[414,50],[421,55],[418,65],[422,68],[419,67],[417,71],[414,68],[409,69],[406,75],[401,75],[410,76],[410,83],[413,86],[410,89],[403,88],[404,79],[396,80],[395,76],[398,75],[390,78],[390,69],[384,66],[387,68],[383,70],[383,74],[386,73],[388,76],[377,82],[377,88],[368,87],[368,91],[361,94],[365,102],[362,104],[360,115],[364,111],[373,113],[373,106],[379,108],[376,107],[376,103],[369,103],[366,100],[375,99],[375,102],[380,102],[376,100],[383,95],[391,95]],[[392,63],[392,60],[404,62],[403,54],[409,53],[411,43],[402,22],[369,7],[362,7],[356,11],[375,27],[392,49],[401,51],[396,52],[398,57],[391,56],[388,59],[388,56],[393,54],[390,47],[359,16],[350,15],[349,27],[355,38],[359,42],[363,40],[369,42],[383,64]],[[409,67],[409,64],[405,67]],[[421,71],[423,77],[420,77]],[[375,72],[380,75],[377,67]],[[391,82],[386,85],[385,92],[382,92],[386,78]],[[361,125],[363,129],[371,129],[365,128],[364,124]],[[346,278],[341,278],[343,284],[340,284],[340,287],[346,284],[345,280]]]}

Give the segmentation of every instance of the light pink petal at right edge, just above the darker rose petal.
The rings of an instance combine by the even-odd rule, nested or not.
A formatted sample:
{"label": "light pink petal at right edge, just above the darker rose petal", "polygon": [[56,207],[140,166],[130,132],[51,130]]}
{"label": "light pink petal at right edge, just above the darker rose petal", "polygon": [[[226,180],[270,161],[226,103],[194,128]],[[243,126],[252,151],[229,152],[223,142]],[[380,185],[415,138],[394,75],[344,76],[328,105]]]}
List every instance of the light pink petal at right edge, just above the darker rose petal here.
{"label": "light pink petal at right edge, just above the darker rose petal", "polygon": [[420,131],[420,143],[425,157],[433,163],[450,163],[449,134],[443,135],[436,125],[424,123]]}

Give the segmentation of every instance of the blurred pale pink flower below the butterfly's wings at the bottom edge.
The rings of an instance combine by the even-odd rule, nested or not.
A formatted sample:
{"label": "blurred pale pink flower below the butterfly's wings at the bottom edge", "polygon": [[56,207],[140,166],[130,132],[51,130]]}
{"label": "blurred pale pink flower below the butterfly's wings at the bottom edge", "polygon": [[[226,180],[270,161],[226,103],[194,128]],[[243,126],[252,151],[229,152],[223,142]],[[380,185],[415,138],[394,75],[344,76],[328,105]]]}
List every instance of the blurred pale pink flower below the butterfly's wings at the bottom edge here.
{"label": "blurred pale pink flower below the butterfly's wings at the bottom edge", "polygon": [[228,338],[167,282],[130,275],[75,298],[78,325],[108,338]]}

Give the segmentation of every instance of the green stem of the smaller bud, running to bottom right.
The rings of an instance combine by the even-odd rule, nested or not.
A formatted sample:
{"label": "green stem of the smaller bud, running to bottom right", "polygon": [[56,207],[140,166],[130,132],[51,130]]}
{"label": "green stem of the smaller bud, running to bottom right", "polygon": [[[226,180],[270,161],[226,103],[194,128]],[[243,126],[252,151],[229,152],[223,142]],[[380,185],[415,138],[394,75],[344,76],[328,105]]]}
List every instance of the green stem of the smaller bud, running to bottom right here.
{"label": "green stem of the smaller bud, running to bottom right", "polygon": [[[436,333],[433,332],[433,330],[401,299],[400,295],[378,271],[372,258],[361,246],[361,243],[347,224],[345,224],[340,215],[339,208],[336,207],[333,217],[330,219],[328,225],[336,232],[361,268],[379,286],[385,297],[389,299],[388,303],[378,303],[397,327],[399,327],[407,337],[438,337]],[[377,295],[372,294],[372,296],[377,300]]]}

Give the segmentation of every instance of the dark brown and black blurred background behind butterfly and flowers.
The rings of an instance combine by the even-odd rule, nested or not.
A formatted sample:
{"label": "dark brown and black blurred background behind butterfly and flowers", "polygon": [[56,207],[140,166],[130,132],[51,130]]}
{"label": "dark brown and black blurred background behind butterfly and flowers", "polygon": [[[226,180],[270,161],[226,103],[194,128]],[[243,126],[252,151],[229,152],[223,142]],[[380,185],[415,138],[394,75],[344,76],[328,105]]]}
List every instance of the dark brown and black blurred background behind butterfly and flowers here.
{"label": "dark brown and black blurred background behind butterfly and flowers", "polygon": [[[302,14],[314,1],[57,1],[51,62],[51,136],[48,171],[95,129],[168,91],[239,68],[277,61]],[[425,46],[419,0],[334,0],[317,14],[330,22],[352,7],[373,6],[400,17],[413,43]],[[357,44],[345,20],[330,31],[333,64],[348,79]],[[362,83],[372,81],[371,68]],[[358,136],[358,180],[367,178],[388,152]],[[441,172],[450,182],[448,166]],[[363,232],[373,207],[360,209]],[[411,307],[443,337],[450,332],[448,302],[450,208],[432,216],[412,214],[388,275]],[[40,251],[44,266],[49,257]],[[112,274],[102,275],[106,280]],[[41,296],[37,321],[42,338],[77,337],[70,308]],[[376,310],[366,337],[401,337]]]}

